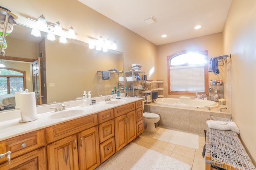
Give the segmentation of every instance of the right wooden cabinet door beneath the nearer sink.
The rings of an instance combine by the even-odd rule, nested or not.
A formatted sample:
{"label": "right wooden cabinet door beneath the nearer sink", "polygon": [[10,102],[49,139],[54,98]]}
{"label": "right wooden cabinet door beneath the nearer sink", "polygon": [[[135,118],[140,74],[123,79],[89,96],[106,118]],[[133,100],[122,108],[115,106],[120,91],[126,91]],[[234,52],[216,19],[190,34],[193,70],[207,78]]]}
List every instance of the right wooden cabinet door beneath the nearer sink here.
{"label": "right wooden cabinet door beneath the nearer sink", "polygon": [[100,165],[100,143],[98,126],[78,133],[77,138],[80,169],[95,169]]}

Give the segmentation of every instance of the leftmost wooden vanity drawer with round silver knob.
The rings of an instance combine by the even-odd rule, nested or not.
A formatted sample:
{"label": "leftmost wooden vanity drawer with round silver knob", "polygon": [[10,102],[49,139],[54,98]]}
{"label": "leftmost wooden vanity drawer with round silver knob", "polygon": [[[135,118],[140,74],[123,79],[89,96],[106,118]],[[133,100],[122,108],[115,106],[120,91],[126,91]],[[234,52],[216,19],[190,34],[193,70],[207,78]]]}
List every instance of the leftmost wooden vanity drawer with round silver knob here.
{"label": "leftmost wooden vanity drawer with round silver knob", "polygon": [[[0,154],[11,151],[11,158],[15,158],[45,145],[44,129],[26,133],[0,142]],[[6,162],[6,157],[0,159],[0,164]]]}

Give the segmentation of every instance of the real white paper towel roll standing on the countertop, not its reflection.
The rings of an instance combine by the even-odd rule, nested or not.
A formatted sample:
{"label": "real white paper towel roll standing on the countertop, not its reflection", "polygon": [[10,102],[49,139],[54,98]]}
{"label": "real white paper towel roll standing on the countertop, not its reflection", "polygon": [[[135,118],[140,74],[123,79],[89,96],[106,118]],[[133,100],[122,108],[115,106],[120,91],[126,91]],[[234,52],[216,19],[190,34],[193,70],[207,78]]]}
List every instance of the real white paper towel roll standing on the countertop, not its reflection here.
{"label": "real white paper towel roll standing on the countertop, not its reflection", "polygon": [[36,94],[34,92],[20,94],[20,113],[22,122],[37,119]]}

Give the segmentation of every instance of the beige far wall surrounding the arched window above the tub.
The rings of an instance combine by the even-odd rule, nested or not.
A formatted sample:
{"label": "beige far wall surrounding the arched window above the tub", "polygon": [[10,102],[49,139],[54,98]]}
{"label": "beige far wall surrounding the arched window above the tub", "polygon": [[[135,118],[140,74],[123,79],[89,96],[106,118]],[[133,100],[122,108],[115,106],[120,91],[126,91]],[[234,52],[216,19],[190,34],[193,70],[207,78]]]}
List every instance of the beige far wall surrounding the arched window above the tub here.
{"label": "beige far wall surrounding the arched window above the tub", "polygon": [[[174,53],[178,53],[180,51],[204,51],[208,50],[209,60],[211,57],[225,55],[222,50],[222,33],[216,33],[212,35],[207,35],[203,37],[198,37],[194,39],[188,39],[184,41],[178,41],[175,43],[169,43],[165,45],[160,45],[157,47],[157,56],[158,56],[158,78],[164,80],[165,87],[165,95],[172,98],[178,98],[179,96],[168,95],[167,88],[167,78],[168,78],[168,68],[167,68],[167,56],[172,55]],[[220,74],[214,75],[213,73],[209,73],[209,80],[222,79],[224,82],[224,66],[220,66]]]}

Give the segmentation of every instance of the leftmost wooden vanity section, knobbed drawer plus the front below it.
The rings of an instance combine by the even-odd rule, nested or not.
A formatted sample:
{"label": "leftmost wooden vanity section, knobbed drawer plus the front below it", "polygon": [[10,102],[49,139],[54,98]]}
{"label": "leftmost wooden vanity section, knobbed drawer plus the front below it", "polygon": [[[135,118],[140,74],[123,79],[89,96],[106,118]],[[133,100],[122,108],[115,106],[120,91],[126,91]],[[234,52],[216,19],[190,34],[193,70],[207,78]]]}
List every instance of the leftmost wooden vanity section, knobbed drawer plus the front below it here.
{"label": "leftmost wooden vanity section, knobbed drawer plus the front below it", "polygon": [[0,142],[0,153],[11,151],[11,162],[0,159],[0,169],[46,169],[44,129]]}

